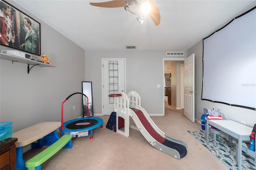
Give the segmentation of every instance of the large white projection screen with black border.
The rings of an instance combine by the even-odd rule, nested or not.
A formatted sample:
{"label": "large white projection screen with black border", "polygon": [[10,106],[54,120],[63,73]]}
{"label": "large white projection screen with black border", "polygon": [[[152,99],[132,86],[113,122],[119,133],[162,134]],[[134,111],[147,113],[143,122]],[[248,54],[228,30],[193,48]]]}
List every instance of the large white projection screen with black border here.
{"label": "large white projection screen with black border", "polygon": [[256,108],[256,6],[203,39],[202,100]]}

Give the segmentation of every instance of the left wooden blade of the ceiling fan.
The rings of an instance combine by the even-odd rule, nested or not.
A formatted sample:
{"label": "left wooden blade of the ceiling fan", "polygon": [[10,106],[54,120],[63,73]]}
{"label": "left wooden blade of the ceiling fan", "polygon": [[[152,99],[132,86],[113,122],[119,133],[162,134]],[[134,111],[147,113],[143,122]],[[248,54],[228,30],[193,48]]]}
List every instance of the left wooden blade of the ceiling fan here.
{"label": "left wooden blade of the ceiling fan", "polygon": [[[90,2],[92,6],[104,7],[104,8],[118,8],[124,7],[126,5],[127,0],[111,0],[106,2]],[[132,5],[133,2],[128,3],[128,5]]]}

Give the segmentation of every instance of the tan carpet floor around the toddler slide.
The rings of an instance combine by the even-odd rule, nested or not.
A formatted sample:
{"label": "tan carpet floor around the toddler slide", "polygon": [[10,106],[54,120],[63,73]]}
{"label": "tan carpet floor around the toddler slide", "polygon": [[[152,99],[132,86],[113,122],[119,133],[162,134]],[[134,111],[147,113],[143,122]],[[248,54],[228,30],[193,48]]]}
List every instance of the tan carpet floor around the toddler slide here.
{"label": "tan carpet floor around the toddler slide", "polygon": [[[100,117],[104,120],[104,125],[103,128],[94,129],[94,139],[89,139],[90,134],[87,137],[73,138],[73,147],[61,149],[42,164],[42,170],[228,169],[187,132],[201,130],[200,124],[192,123],[184,116],[183,111],[175,111],[167,102],[165,116],[151,118],[167,135],[186,141],[188,154],[180,160],[152,147],[140,131],[130,129],[130,137],[110,131],[106,128],[109,115]],[[31,149],[25,152],[24,160],[28,160],[41,150]]]}

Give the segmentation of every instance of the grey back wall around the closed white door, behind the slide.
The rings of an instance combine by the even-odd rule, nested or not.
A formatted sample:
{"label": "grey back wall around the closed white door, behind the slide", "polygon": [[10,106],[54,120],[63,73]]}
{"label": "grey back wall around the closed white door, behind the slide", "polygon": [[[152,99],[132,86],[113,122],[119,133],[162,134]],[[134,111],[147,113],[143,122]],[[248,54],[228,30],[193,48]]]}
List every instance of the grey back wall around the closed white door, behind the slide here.
{"label": "grey back wall around the closed white door, behind the slide", "polygon": [[[186,58],[186,50],[182,51],[185,56],[180,58]],[[168,58],[166,51],[86,51],[85,55],[85,76],[86,81],[92,81],[94,114],[102,113],[101,59],[126,58],[126,91],[138,92],[141,105],[148,114],[163,115],[163,58]],[[160,88],[156,87],[157,84],[160,84]]]}

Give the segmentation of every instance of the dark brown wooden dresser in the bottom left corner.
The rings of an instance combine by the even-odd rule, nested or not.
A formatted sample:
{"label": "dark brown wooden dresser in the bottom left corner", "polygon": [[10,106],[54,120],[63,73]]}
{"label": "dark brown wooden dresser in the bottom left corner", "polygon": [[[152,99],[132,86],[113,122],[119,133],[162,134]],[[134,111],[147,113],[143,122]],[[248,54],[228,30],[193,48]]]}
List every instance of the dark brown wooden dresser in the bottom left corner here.
{"label": "dark brown wooden dresser in the bottom left corner", "polygon": [[16,146],[17,138],[9,138],[0,143],[0,169],[16,170]]}

